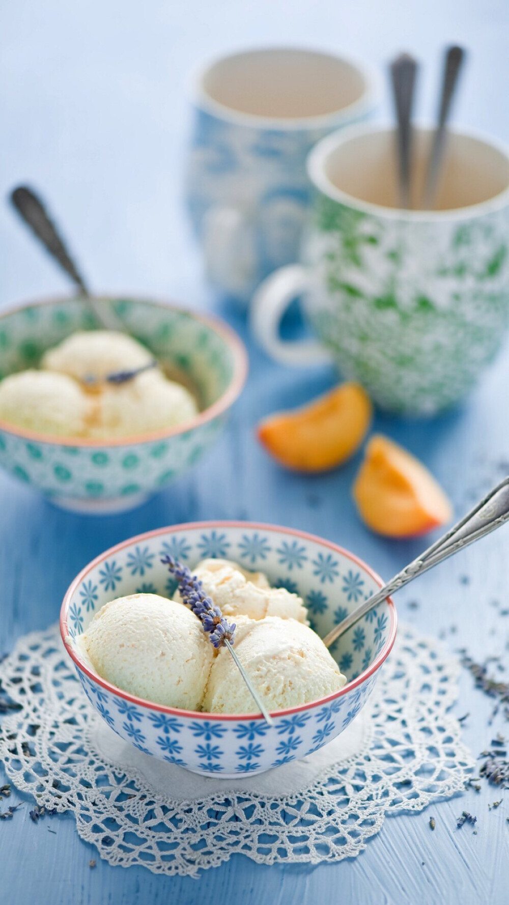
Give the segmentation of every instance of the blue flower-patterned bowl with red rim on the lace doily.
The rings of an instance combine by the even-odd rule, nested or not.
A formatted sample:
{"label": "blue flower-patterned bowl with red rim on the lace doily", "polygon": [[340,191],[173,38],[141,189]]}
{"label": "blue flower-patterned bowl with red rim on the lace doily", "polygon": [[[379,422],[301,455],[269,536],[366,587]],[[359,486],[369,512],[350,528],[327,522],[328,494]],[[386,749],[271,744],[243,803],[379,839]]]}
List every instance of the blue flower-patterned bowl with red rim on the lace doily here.
{"label": "blue flower-patterned bowl with red rim on the lace doily", "polygon": [[322,748],[351,723],[373,690],[396,637],[387,600],[331,648],[347,676],[341,691],[292,710],[276,711],[274,726],[254,714],[218,715],[163,707],[104,681],[82,660],[76,637],[114,597],[137,592],[172,595],[175,581],[160,558],[193,567],[204,557],[228,557],[263,570],[274,586],[303,596],[322,637],[382,585],[357,557],[322,538],[251,522],[197,522],[158,529],[110,548],[85,567],[62,603],[63,643],[82,687],[111,729],[136,748],[203,776],[263,773]]}

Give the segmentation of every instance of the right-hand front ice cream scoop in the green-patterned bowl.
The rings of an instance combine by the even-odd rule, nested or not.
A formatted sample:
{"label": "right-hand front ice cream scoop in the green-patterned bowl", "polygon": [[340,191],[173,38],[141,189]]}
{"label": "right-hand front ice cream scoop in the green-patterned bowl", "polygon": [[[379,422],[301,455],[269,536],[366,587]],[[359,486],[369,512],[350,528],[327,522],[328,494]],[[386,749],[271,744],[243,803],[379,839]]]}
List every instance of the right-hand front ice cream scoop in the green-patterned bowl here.
{"label": "right-hand front ice cream scoop in the green-patterned bowl", "polygon": [[160,371],[146,371],[119,386],[102,386],[91,436],[107,439],[160,431],[195,415],[195,398],[185,386]]}

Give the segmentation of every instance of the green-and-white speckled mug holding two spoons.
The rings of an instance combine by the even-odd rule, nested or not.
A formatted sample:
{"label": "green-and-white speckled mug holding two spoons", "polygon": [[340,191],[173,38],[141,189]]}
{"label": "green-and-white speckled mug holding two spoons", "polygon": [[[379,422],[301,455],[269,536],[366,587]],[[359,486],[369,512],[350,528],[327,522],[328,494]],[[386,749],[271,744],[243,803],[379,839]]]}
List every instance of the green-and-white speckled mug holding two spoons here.
{"label": "green-and-white speckled mug holding two spoons", "polygon": [[[431,133],[416,131],[412,207]],[[308,158],[315,187],[302,264],[255,293],[252,325],[274,358],[334,361],[383,409],[435,414],[474,386],[509,322],[509,154],[452,132],[433,211],[401,210],[394,133],[357,127],[323,139]],[[291,300],[319,342],[283,342]]]}

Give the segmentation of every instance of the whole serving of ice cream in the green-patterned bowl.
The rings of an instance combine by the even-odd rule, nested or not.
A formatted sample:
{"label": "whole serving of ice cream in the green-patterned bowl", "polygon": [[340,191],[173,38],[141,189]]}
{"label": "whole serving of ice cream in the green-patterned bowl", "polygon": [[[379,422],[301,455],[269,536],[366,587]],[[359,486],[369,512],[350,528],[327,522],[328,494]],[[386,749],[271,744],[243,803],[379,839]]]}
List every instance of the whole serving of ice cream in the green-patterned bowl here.
{"label": "whole serving of ice cream in the green-patterned bowl", "polygon": [[113,330],[73,333],[43,356],[42,369],[0,382],[0,418],[38,433],[142,436],[190,421],[194,396],[158,367],[120,384],[105,378],[153,361],[148,348]]}

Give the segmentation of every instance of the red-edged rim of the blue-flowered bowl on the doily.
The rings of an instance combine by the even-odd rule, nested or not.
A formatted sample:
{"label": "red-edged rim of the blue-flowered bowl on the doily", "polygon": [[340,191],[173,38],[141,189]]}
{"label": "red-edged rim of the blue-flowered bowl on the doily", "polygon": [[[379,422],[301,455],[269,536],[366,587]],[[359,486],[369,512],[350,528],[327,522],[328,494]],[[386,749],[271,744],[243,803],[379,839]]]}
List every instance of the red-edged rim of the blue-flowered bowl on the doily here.
{"label": "red-edged rim of the blue-flowered bowl on the doily", "polygon": [[[189,529],[218,529],[218,528],[245,528],[245,529],[257,529],[263,531],[281,531],[286,535],[290,535],[293,538],[302,538],[304,540],[312,540],[314,542],[318,542],[323,547],[334,550],[336,553],[341,554],[341,556],[350,559],[352,563],[356,566],[361,567],[365,570],[365,572],[374,579],[379,587],[383,587],[384,582],[380,578],[380,576],[370,567],[368,566],[360,557],[355,556],[355,554],[351,553],[350,550],[347,550],[343,547],[340,547],[339,544],[334,544],[330,540],[325,540],[324,538],[320,538],[316,534],[310,534],[307,531],[300,531],[293,528],[284,528],[281,525],[270,525],[266,522],[255,522],[255,521],[236,521],[236,520],[222,520],[222,521],[194,521],[194,522],[182,522],[179,525],[171,525],[167,528],[158,528],[152,531],[145,531],[142,534],[135,535],[133,538],[128,538],[127,540],[121,541],[120,544],[115,544],[113,547],[105,550],[100,556],[95,557],[88,563],[87,566],[82,568],[82,571],[73,579],[71,585],[67,588],[65,595],[62,600],[62,607],[60,611],[60,633],[62,635],[62,642],[64,647],[71,657],[72,661],[78,668],[84,672],[89,679],[101,685],[102,688],[106,689],[106,691],[110,691],[111,694],[119,697],[123,700],[127,700],[132,704],[136,704],[139,707],[143,707],[149,710],[158,710],[161,713],[168,713],[172,716],[184,717],[184,718],[192,718],[192,719],[208,719],[208,720],[236,720],[236,721],[245,721],[245,720],[257,720],[260,719],[264,721],[264,717],[261,714],[257,713],[206,713],[198,710],[183,710],[178,707],[167,707],[165,704],[157,704],[151,700],[145,700],[144,698],[138,698],[136,695],[130,694],[128,691],[123,691],[118,688],[116,685],[113,685],[111,682],[102,679],[97,672],[93,672],[90,667],[87,666],[85,662],[79,657],[79,655],[74,650],[72,643],[70,643],[70,635],[67,629],[67,613],[69,610],[69,606],[71,604],[72,595],[74,594],[76,588],[82,583],[82,580],[91,572],[91,569],[98,566],[101,562],[103,562],[108,557],[114,555],[115,553],[120,553],[120,550],[123,550],[127,547],[130,547],[135,544],[142,543],[145,540],[149,540],[150,538],[157,538],[160,535],[168,535],[168,534],[176,534],[178,531],[189,530]],[[273,710],[271,711],[271,715],[278,718],[283,716],[289,716],[293,713],[300,713],[303,710],[311,710],[315,707],[321,707],[324,704],[329,703],[331,700],[336,700],[337,698],[343,697],[347,692],[352,691],[354,688],[357,688],[363,682],[370,678],[373,673],[377,672],[382,665],[383,662],[389,656],[390,651],[392,650],[393,644],[396,640],[396,633],[398,629],[398,614],[396,612],[396,607],[394,605],[394,601],[392,597],[387,598],[387,602],[389,604],[389,616],[390,616],[390,624],[389,624],[389,637],[387,642],[382,647],[378,656],[375,660],[370,664],[370,666],[360,672],[357,679],[354,679],[351,682],[347,682],[340,691],[334,691],[332,694],[326,695],[324,698],[319,698],[318,700],[312,700],[307,704],[299,704],[296,707],[291,707],[286,710]],[[69,639],[69,640],[68,640]]]}

